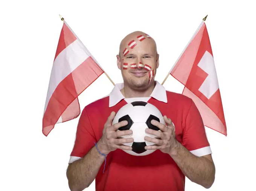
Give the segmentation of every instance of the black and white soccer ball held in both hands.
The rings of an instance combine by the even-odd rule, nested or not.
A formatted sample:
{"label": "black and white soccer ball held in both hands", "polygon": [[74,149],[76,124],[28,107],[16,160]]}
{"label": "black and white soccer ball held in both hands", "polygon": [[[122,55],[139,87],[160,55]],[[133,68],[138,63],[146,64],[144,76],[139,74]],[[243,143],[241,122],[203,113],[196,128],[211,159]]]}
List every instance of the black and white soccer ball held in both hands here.
{"label": "black and white soccer ball held in both hands", "polygon": [[128,121],[128,125],[120,127],[117,131],[124,131],[131,129],[133,131],[132,135],[125,135],[120,138],[133,138],[133,143],[123,143],[123,145],[131,146],[132,150],[123,150],[130,155],[144,156],[149,155],[155,150],[146,150],[145,146],[154,145],[149,141],[145,141],[144,137],[153,137],[154,135],[147,134],[145,132],[146,128],[154,129],[160,131],[157,126],[151,124],[151,120],[157,120],[160,123],[165,124],[162,113],[152,104],[144,101],[134,101],[130,104],[124,105],[117,111],[116,116],[113,120],[113,125],[119,123],[123,120]]}

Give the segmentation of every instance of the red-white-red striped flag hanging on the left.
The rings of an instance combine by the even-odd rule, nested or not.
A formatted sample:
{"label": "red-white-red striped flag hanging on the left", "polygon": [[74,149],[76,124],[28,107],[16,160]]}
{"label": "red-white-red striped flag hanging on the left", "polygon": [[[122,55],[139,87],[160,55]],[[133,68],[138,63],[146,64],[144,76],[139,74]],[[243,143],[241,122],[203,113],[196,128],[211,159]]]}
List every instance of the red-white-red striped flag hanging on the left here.
{"label": "red-white-red striped flag hanging on the left", "polygon": [[43,114],[43,134],[80,114],[78,96],[104,71],[64,21]]}

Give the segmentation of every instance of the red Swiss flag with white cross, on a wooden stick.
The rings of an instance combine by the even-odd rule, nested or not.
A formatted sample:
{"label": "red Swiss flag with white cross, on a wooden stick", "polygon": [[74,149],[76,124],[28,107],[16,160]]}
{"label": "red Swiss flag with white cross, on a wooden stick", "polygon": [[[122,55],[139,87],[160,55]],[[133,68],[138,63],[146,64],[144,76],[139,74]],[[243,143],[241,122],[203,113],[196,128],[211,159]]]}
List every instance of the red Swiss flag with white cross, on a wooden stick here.
{"label": "red Swiss flag with white cross, on a wooden stick", "polygon": [[212,47],[204,21],[170,74],[185,86],[182,94],[195,102],[204,125],[227,136]]}

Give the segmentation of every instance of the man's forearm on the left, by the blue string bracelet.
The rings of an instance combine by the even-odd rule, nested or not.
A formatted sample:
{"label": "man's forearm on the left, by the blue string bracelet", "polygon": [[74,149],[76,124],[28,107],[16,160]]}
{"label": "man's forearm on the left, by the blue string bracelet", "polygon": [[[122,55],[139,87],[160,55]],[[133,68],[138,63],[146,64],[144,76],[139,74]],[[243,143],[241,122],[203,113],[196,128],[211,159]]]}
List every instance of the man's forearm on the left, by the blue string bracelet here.
{"label": "man's forearm on the left, by the blue string bracelet", "polygon": [[67,168],[67,179],[71,191],[82,191],[93,182],[99,168],[104,162],[102,156],[94,146],[84,158],[81,158]]}

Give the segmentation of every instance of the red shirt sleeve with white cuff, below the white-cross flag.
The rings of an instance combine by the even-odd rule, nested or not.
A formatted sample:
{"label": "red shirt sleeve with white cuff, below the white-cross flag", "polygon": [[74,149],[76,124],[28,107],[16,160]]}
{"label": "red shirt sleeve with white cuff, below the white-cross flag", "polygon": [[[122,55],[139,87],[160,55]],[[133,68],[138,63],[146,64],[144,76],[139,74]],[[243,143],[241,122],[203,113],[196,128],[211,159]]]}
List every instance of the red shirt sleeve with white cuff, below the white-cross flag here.
{"label": "red shirt sleeve with white cuff, below the white-cross flag", "polygon": [[196,156],[212,154],[203,119],[192,100],[183,129],[183,146]]}

